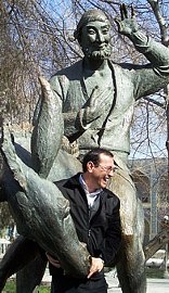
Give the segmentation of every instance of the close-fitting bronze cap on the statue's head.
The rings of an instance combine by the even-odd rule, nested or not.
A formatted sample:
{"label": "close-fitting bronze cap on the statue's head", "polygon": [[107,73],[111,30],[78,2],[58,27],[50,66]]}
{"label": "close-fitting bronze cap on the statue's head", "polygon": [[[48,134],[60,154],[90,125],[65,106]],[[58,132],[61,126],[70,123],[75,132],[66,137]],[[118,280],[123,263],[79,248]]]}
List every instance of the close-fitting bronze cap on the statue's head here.
{"label": "close-fitting bronze cap on the statue's head", "polygon": [[[100,22],[106,21],[109,23],[107,15],[102,10],[91,9],[91,10],[86,11],[82,14],[77,25],[77,29],[74,33],[74,37],[75,39],[78,40],[78,42],[80,42],[82,27],[86,26],[89,22],[95,22],[95,21],[100,21]],[[109,23],[109,26],[110,26],[110,23]]]}

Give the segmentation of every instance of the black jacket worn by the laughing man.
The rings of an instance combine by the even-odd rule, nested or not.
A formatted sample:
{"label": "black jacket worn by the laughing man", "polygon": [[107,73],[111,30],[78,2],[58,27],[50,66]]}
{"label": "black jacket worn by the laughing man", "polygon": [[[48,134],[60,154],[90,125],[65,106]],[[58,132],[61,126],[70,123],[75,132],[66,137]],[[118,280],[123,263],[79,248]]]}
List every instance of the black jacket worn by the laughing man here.
{"label": "black jacket worn by the laughing man", "polygon": [[100,207],[91,216],[86,193],[79,183],[79,175],[55,184],[69,201],[79,241],[87,243],[91,256],[102,257],[105,264],[112,264],[121,242],[119,199],[104,189],[100,194]]}

